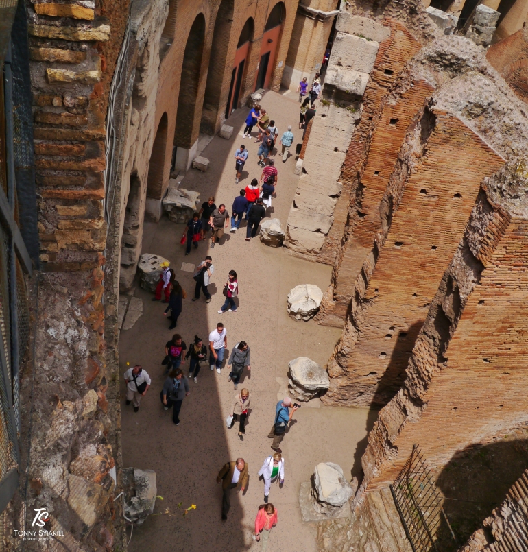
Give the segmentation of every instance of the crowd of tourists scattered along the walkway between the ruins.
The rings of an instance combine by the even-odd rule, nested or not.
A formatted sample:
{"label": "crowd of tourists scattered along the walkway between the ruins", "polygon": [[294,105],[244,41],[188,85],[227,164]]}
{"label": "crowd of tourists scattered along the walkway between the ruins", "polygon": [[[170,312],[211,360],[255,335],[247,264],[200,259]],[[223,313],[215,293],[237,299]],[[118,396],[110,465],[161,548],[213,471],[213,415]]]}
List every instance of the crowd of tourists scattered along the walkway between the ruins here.
{"label": "crowd of tourists scattered along the walkway between the ruins", "polygon": [[[301,102],[302,120],[300,120],[299,128],[306,128],[311,117],[315,115],[314,102],[319,97],[320,92],[321,85],[318,75],[310,89],[306,78],[303,78],[300,82],[298,93]],[[311,106],[308,107],[308,104],[311,104]],[[225,204],[216,206],[215,197],[213,196],[202,204],[200,211],[193,213],[193,217],[187,221],[181,240],[182,244],[186,243],[186,256],[191,252],[191,245],[197,248],[200,241],[208,239],[208,232],[211,232],[211,248],[214,248],[221,240],[224,229],[228,228],[229,224],[229,231],[236,232],[243,220],[247,221],[245,239],[250,241],[252,237],[255,237],[261,220],[266,216],[267,208],[271,208],[272,197],[276,197],[278,183],[278,171],[272,158],[278,139],[278,128],[275,121],[269,118],[267,111],[259,105],[250,110],[245,121],[244,139],[251,137],[251,132],[255,126],[258,131],[255,142],[259,143],[256,155],[259,157],[259,165],[263,167],[261,177],[259,180],[253,178],[245,189],[240,189],[239,195],[235,197],[232,203],[231,215],[228,213]],[[285,162],[289,155],[289,148],[293,143],[291,126],[280,136],[278,143],[282,146],[281,155],[283,156],[283,162]],[[248,156],[248,149],[244,144],[241,144],[235,152],[235,184],[239,184]],[[182,311],[182,299],[185,298],[186,293],[176,281],[170,263],[166,261],[160,267],[162,272],[152,300],[161,301],[163,296],[163,302],[167,304],[163,314],[167,316],[170,311],[171,324],[169,329],[173,329],[177,326],[178,317]],[[214,272],[213,259],[210,255],[197,264],[193,274],[195,280],[193,301],[199,300],[200,292],[202,292],[206,303],[211,302],[208,285]],[[227,311],[237,312],[238,305],[235,298],[238,295],[238,289],[237,273],[235,270],[230,270],[223,289],[225,300],[218,311],[219,314]],[[172,409],[172,420],[176,426],[180,424],[180,410],[184,398],[190,394],[189,380],[193,379],[194,383],[198,383],[200,368],[207,361],[211,371],[216,370],[217,374],[221,374],[227,346],[227,331],[221,322],[209,334],[208,346],[201,337],[195,335],[190,347],[187,348],[187,344],[178,333],[173,334],[165,344],[165,357],[162,363],[165,366],[165,381],[160,390],[160,401],[165,411]],[[184,370],[182,370],[182,364],[187,359],[189,359],[188,375],[184,374]],[[226,418],[226,424],[231,429],[235,426],[235,422],[238,422],[238,435],[240,440],[243,440],[245,424],[250,415],[252,401],[248,388],[243,387],[240,391],[238,390],[244,370],[248,373],[251,370],[250,346],[246,341],[239,341],[235,344],[228,357],[226,367],[228,381],[233,383],[235,389],[235,396],[232,400],[229,415]],[[137,412],[139,411],[141,398],[145,396],[152,383],[151,379],[141,365],[129,368],[124,376],[127,385],[125,403],[126,405],[132,403],[134,412]],[[278,481],[282,486],[285,479],[285,461],[282,457],[280,444],[298,407],[299,405],[292,405],[289,397],[285,397],[277,403],[272,429],[267,435],[269,439],[273,440],[272,449],[274,453],[264,459],[258,472],[259,477],[262,477],[264,481],[264,504],[259,506],[256,514],[253,538],[261,540],[264,551],[267,548],[269,532],[278,520],[276,507],[269,503],[269,492],[274,481]],[[217,482],[222,483],[222,520],[227,519],[230,509],[230,491],[235,488],[245,491],[248,487],[248,478],[249,465],[241,457],[235,461],[227,462],[219,470]]]}

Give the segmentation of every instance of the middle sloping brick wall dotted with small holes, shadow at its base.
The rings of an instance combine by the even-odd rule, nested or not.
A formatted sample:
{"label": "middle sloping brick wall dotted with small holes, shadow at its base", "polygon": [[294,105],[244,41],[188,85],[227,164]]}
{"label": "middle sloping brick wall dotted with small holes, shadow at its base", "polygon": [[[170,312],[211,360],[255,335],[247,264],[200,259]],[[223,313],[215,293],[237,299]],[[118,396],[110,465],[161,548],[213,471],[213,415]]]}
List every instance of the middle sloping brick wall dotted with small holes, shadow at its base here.
{"label": "middle sloping brick wall dotted with small holes, shadow at its base", "polygon": [[[398,392],[414,340],[464,233],[480,182],[503,164],[503,158],[457,117],[425,110],[420,123],[423,149],[411,152],[420,158],[404,182],[389,184],[396,189],[384,198],[387,208],[380,208],[380,215],[387,217],[385,231],[377,223],[378,243],[385,245],[373,250],[372,276],[366,271],[359,277],[357,289],[364,279],[368,285],[364,291],[358,289],[361,300],[352,307],[353,326],[347,326],[328,363],[331,387],[325,402],[385,405]],[[409,140],[413,138],[410,133]]]}

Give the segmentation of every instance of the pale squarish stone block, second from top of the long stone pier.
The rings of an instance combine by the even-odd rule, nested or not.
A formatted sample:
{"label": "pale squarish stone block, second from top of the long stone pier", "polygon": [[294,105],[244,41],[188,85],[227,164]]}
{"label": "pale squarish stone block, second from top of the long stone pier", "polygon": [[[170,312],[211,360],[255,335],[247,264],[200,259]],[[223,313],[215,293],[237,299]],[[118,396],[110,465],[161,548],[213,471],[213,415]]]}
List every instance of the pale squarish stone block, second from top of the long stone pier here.
{"label": "pale squarish stone block, second from top of the long stone pier", "polygon": [[[370,73],[376,61],[378,43],[353,34],[337,33],[332,46],[328,69],[339,66]],[[326,82],[326,78],[325,78]]]}

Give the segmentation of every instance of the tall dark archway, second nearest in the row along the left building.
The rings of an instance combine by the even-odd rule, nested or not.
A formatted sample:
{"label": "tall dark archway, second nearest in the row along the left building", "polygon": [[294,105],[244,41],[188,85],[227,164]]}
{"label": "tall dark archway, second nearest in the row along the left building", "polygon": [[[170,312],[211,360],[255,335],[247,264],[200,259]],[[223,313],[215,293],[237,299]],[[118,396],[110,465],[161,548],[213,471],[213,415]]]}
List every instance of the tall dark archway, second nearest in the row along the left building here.
{"label": "tall dark archway, second nearest in the row along the left building", "polygon": [[[198,139],[200,128],[195,125],[197,117],[196,99],[200,86],[200,69],[204,51],[205,18],[198,14],[194,20],[185,51],[183,54],[182,75],[180,77],[180,94],[178,95],[178,112],[176,129],[174,131],[174,147],[176,152],[173,166],[178,170],[187,171],[193,161],[191,149]],[[195,129],[193,131],[193,129]]]}

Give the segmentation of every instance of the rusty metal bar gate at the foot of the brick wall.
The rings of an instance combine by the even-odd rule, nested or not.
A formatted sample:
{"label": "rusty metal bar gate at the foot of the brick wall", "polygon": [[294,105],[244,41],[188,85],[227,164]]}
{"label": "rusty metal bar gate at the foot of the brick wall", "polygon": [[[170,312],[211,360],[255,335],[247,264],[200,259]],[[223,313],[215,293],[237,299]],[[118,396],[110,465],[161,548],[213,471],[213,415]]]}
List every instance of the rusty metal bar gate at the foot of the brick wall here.
{"label": "rusty metal bar gate at the foot of the brick wall", "polygon": [[417,445],[390,490],[414,552],[456,549],[455,534],[442,507],[444,496]]}

